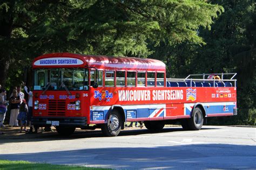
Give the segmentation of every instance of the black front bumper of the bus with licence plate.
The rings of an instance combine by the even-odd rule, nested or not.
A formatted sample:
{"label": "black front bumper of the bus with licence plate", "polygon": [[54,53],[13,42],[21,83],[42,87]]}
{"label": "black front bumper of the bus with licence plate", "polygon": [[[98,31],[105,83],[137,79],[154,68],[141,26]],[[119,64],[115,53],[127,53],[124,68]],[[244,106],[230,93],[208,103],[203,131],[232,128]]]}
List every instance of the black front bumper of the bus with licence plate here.
{"label": "black front bumper of the bus with licence plate", "polygon": [[45,126],[86,126],[87,117],[38,117],[31,119],[32,125]]}

